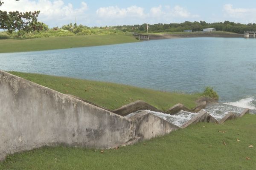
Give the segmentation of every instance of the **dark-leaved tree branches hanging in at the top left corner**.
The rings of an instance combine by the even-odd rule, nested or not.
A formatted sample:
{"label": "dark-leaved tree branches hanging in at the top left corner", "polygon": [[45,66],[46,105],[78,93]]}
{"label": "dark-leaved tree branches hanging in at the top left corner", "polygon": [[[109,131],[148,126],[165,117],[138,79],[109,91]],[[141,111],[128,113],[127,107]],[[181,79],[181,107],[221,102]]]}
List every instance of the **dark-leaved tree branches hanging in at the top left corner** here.
{"label": "dark-leaved tree branches hanging in at the top left corner", "polygon": [[[2,5],[3,2],[0,0],[0,6]],[[0,29],[8,30],[9,33],[15,30],[40,31],[43,29],[43,23],[37,20],[39,14],[40,11],[22,13],[19,11],[7,12],[0,10]]]}

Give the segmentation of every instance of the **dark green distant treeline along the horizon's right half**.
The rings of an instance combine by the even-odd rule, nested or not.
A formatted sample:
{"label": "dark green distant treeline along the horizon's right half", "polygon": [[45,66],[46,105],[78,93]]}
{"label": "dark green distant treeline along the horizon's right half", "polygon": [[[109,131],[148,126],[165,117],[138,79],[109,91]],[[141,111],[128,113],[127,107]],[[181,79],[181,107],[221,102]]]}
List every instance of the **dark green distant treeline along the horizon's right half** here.
{"label": "dark green distant treeline along the horizon's right half", "polygon": [[[252,31],[256,30],[255,23],[249,24],[240,24],[234,23],[230,21],[225,21],[224,23],[206,23],[205,21],[200,22],[189,22],[186,21],[184,23],[170,23],[170,24],[153,24],[148,25],[149,32],[183,32],[184,30],[192,30],[192,31],[203,31],[204,28],[216,28],[217,31],[227,31],[242,34],[244,31]],[[147,24],[142,25],[134,25],[134,26],[114,26],[122,31],[129,32],[138,32],[145,33],[147,31]]]}

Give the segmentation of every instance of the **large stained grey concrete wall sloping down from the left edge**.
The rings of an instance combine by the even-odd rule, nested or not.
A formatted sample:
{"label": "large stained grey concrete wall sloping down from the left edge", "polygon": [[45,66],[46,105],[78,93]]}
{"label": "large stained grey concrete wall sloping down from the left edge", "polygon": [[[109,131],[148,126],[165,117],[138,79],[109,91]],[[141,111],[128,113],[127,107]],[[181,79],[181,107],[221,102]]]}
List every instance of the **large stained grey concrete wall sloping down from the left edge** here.
{"label": "large stained grey concrete wall sloping down from the left edge", "polygon": [[108,148],[134,138],[130,119],[0,71],[0,159],[44,145]]}

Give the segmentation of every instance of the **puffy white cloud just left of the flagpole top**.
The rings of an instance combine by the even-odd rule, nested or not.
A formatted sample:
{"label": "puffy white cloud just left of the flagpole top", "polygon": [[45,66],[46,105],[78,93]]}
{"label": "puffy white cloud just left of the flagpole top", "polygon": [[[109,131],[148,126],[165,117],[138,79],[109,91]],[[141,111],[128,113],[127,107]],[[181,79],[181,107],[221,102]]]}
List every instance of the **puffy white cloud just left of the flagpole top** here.
{"label": "puffy white cloud just left of the flagpole top", "polygon": [[119,8],[118,6],[101,7],[97,9],[96,14],[100,18],[116,19],[116,18],[131,18],[145,17],[144,9],[137,6],[128,8]]}

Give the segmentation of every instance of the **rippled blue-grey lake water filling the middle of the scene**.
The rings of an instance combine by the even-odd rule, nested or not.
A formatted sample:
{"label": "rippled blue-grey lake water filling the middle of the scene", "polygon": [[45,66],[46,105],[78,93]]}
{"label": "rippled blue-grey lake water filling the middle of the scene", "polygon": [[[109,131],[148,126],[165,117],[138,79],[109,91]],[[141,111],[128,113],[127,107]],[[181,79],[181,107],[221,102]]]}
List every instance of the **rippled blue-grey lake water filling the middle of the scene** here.
{"label": "rippled blue-grey lake water filling the middle of the scene", "polygon": [[180,38],[2,53],[0,69],[184,93],[212,86],[221,102],[256,106],[256,39]]}

